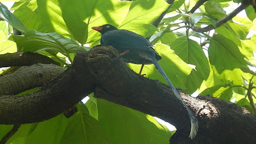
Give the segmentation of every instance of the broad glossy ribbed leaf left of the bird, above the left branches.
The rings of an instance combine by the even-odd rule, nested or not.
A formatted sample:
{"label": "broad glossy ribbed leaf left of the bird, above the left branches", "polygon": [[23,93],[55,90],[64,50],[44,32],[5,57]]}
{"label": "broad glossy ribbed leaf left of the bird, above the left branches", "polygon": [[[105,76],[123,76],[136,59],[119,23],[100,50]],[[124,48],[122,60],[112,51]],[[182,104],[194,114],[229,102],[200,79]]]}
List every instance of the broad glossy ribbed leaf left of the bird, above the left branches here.
{"label": "broad glossy ribbed leaf left of the bird, above the left branches", "polygon": [[38,31],[28,31],[24,36],[13,36],[21,51],[51,51],[61,52],[66,56],[84,47],[78,45],[74,40],[67,39],[58,33],[40,33]]}

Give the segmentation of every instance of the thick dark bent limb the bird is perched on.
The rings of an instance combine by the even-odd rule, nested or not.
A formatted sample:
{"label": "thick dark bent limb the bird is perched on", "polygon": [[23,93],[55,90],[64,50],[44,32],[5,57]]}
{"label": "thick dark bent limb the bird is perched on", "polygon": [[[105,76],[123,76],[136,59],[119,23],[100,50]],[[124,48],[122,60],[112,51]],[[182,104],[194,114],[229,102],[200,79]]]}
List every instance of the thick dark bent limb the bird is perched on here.
{"label": "thick dark bent limb the bird is perched on", "polygon": [[[1,79],[1,77],[0,77]],[[209,96],[193,98],[179,90],[199,121],[195,139],[188,138],[186,109],[169,86],[138,76],[112,47],[77,52],[68,68],[40,90],[28,95],[0,97],[0,124],[40,122],[63,113],[91,92],[95,97],[162,118],[175,125],[170,143],[255,143],[256,116],[231,102]]]}

